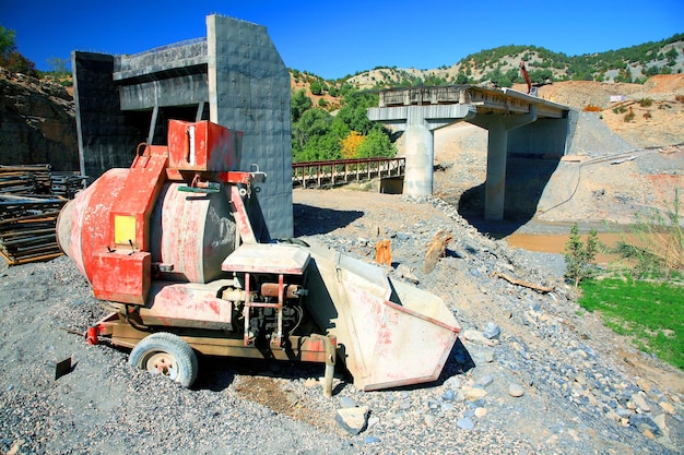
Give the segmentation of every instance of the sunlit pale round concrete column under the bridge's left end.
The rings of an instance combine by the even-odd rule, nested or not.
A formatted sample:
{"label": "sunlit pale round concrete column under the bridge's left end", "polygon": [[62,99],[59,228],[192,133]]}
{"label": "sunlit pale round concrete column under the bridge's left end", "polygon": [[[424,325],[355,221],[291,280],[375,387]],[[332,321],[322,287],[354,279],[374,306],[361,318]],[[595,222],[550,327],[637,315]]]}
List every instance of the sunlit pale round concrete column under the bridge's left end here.
{"label": "sunlit pale round concrete column under the bridge's left end", "polygon": [[406,128],[406,173],[403,193],[411,196],[433,194],[434,132],[422,123]]}

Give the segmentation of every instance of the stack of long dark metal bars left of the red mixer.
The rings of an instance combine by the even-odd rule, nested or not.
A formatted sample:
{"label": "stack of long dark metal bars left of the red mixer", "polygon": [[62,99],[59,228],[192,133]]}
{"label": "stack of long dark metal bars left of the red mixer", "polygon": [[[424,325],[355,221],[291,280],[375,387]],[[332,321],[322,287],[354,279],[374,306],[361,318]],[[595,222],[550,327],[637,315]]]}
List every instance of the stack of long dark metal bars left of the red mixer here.
{"label": "stack of long dark metal bars left of the red mixer", "polygon": [[49,165],[0,166],[0,256],[10,265],[59,256],[57,216],[85,179]]}

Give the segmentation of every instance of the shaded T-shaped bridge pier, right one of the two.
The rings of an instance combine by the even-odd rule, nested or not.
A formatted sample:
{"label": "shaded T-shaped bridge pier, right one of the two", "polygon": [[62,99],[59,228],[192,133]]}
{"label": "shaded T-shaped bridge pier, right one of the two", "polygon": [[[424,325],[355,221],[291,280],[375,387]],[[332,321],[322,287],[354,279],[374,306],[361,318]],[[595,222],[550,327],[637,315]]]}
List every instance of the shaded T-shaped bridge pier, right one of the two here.
{"label": "shaded T-shaped bridge pier, right one of the two", "polygon": [[500,221],[504,219],[506,200],[506,160],[508,157],[508,132],[536,121],[536,107],[530,106],[530,112],[518,116],[479,116],[471,123],[484,128],[487,141],[487,177],[484,183],[484,219]]}

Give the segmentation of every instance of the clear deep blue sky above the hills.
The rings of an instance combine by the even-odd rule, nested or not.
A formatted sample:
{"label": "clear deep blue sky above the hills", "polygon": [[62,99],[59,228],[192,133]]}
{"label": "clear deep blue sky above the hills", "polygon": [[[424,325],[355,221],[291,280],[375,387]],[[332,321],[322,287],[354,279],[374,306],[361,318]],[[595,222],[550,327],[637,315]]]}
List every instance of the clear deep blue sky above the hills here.
{"label": "clear deep blue sky above the hills", "polygon": [[49,58],[70,59],[72,50],[135,53],[204,37],[212,13],[264,25],[288,68],[326,79],[451,65],[505,45],[576,56],[684,33],[684,0],[0,0],[0,24],[46,71]]}

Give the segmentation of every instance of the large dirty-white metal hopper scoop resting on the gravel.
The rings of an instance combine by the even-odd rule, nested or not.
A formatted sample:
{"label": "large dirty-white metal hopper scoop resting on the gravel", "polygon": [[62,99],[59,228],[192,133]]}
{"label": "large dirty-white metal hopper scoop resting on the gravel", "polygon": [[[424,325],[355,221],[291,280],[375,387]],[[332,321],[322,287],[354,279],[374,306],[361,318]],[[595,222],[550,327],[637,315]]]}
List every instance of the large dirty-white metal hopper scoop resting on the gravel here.
{"label": "large dirty-white metal hopper scoop resting on the gravel", "polygon": [[460,331],[444,301],[384,270],[310,248],[309,311],[338,339],[338,356],[364,391],[438,379]]}

